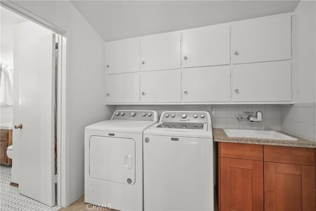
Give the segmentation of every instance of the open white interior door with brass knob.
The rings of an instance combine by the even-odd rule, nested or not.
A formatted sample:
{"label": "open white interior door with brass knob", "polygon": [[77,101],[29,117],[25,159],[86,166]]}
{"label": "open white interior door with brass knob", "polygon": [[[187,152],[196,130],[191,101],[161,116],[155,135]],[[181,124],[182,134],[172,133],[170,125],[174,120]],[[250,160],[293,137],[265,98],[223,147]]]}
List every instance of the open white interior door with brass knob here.
{"label": "open white interior door with brass knob", "polygon": [[13,166],[19,192],[55,205],[55,35],[33,22],[14,28]]}

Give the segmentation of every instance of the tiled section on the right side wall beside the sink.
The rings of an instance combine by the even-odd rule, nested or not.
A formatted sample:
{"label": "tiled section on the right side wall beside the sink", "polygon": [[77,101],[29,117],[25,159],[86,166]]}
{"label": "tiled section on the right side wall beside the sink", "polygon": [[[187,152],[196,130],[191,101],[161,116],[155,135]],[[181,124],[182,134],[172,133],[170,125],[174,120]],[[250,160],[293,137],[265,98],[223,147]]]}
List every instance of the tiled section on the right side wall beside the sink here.
{"label": "tiled section on the right side wall beside the sink", "polygon": [[280,106],[281,131],[316,142],[316,102]]}

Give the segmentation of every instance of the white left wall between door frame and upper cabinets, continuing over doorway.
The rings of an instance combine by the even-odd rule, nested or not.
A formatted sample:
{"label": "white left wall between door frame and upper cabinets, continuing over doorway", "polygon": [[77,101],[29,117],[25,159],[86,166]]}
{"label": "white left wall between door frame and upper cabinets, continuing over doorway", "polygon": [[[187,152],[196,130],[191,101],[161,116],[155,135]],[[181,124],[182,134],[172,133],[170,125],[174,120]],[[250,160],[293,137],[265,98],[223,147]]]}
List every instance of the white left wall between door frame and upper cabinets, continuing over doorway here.
{"label": "white left wall between door frame and upper cabinets, continuing over doorway", "polygon": [[13,3],[70,32],[67,59],[70,59],[70,202],[73,202],[84,193],[84,127],[109,119],[115,108],[104,105],[104,42],[70,1]]}

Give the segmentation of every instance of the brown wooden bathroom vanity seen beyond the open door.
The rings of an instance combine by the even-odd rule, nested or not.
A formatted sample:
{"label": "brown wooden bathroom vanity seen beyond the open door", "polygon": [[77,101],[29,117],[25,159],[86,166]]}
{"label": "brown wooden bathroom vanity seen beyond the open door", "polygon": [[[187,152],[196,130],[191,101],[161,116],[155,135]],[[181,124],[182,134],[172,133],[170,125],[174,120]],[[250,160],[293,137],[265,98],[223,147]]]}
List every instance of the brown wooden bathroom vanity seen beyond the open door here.
{"label": "brown wooden bathroom vanity seen beyond the open door", "polygon": [[0,164],[12,165],[12,160],[6,156],[7,147],[12,145],[12,129],[0,129],[0,133]]}

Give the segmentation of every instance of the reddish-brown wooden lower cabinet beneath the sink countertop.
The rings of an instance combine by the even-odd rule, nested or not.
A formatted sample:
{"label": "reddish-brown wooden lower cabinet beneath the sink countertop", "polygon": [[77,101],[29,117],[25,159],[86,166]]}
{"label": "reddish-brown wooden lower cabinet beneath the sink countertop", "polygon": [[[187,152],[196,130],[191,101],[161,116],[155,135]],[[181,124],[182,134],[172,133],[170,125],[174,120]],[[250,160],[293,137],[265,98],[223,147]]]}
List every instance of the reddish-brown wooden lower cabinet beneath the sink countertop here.
{"label": "reddish-brown wooden lower cabinet beneath the sink countertop", "polygon": [[219,211],[316,211],[315,149],[219,142],[218,156]]}

